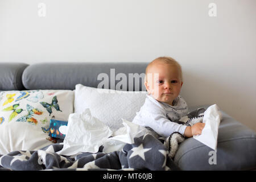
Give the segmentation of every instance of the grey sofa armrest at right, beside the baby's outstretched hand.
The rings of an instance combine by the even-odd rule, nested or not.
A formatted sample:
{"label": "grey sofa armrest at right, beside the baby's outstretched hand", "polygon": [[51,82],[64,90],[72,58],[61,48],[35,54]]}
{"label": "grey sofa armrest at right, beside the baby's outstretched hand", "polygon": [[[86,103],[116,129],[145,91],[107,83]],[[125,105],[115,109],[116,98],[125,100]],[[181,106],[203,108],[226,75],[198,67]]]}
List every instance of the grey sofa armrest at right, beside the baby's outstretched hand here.
{"label": "grey sofa armrest at right, beside the baby's outstretched hand", "polygon": [[[206,106],[205,109],[207,109]],[[193,138],[180,144],[174,162],[182,170],[256,169],[256,133],[222,113],[218,129],[216,162],[211,148]]]}

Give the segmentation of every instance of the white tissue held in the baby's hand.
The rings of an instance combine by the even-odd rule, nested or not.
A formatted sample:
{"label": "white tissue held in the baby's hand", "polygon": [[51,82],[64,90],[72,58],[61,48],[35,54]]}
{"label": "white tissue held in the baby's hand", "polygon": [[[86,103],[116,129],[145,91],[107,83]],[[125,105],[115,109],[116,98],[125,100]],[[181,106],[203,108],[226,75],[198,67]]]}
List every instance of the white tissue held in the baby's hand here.
{"label": "white tissue held in the baby's hand", "polygon": [[209,106],[204,112],[204,129],[201,135],[193,136],[193,138],[217,151],[218,126],[221,119],[222,115],[218,106],[216,104]]}

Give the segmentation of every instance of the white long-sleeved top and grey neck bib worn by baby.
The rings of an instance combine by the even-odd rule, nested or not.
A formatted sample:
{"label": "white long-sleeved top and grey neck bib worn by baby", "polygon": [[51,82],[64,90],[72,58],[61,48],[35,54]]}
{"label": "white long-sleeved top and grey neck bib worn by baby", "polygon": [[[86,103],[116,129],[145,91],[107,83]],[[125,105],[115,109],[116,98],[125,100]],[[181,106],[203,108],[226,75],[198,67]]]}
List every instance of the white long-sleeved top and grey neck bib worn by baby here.
{"label": "white long-sleeved top and grey neck bib worn by baby", "polygon": [[155,100],[147,95],[144,105],[133,119],[134,123],[144,127],[151,127],[163,137],[169,137],[175,131],[184,135],[187,126],[173,122],[188,114],[188,105],[178,96],[173,102],[174,106]]}

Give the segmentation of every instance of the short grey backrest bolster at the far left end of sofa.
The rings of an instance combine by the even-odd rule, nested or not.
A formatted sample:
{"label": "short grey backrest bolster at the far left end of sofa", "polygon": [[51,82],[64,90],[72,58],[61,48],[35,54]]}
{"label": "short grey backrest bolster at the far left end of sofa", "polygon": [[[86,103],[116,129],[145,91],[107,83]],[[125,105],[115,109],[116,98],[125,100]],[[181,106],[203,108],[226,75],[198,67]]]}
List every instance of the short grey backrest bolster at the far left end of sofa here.
{"label": "short grey backrest bolster at the far left end of sofa", "polygon": [[22,90],[22,73],[28,64],[0,63],[0,90]]}

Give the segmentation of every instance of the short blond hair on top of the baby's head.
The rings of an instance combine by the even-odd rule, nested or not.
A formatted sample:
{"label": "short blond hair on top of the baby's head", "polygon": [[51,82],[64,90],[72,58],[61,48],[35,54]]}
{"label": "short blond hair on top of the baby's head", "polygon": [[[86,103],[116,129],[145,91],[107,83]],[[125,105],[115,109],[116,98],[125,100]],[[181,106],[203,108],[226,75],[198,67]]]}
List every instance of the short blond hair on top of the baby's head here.
{"label": "short blond hair on top of the baby's head", "polygon": [[157,63],[159,61],[164,64],[169,64],[169,65],[175,66],[179,70],[181,81],[183,81],[181,65],[175,59],[173,59],[172,57],[168,57],[168,56],[158,57],[158,58],[154,59],[153,61],[151,61],[151,63],[149,63],[147,65],[144,81],[147,81],[147,73],[148,73],[148,70],[150,69],[150,67],[152,67],[152,65],[154,65],[155,63]]}

